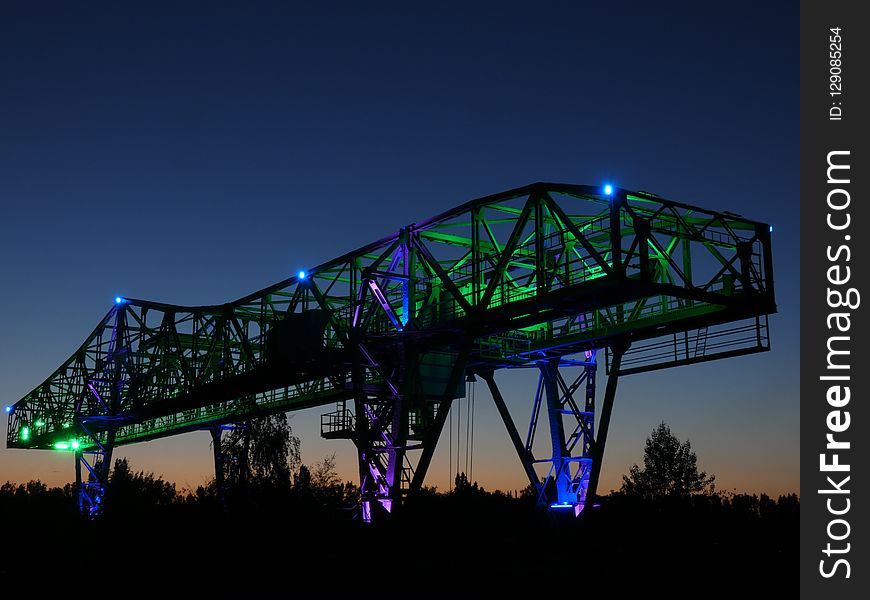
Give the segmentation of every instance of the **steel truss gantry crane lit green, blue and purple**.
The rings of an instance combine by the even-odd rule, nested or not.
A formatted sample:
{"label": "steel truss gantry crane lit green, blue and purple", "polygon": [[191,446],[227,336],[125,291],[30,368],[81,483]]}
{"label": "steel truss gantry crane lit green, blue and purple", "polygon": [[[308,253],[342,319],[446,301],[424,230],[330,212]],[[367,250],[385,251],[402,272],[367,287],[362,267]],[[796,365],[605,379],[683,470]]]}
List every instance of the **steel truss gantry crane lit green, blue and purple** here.
{"label": "steel truss gantry crane lit green, blue and purple", "polygon": [[[80,506],[95,514],[117,446],[208,429],[220,477],[223,428],[336,404],[321,433],[356,445],[370,520],[420,488],[451,403],[480,377],[539,502],[579,513],[595,497],[620,375],[769,349],[770,232],[646,192],[536,183],[235,302],[119,297],[7,408],[7,446],[74,453]],[[538,371],[525,439],[495,380],[513,367]],[[536,458],[542,411],[551,452]]]}

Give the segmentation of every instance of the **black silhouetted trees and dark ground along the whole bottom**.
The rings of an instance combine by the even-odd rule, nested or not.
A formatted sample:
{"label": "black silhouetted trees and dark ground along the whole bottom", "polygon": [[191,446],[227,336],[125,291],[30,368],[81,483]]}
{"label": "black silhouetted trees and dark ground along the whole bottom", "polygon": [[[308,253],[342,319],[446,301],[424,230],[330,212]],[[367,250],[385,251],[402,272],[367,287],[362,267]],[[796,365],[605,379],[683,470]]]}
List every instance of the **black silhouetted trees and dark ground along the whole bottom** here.
{"label": "black silhouetted trees and dark ground along the whole bottom", "polygon": [[[531,486],[489,491],[460,473],[451,490],[424,487],[374,526],[333,457],[303,465],[280,420],[259,427],[222,440],[222,484],[178,489],[116,461],[94,521],[78,515],[72,485],[3,484],[0,576],[44,587],[96,564],[101,582],[122,587],[159,573],[193,593],[245,598],[517,597],[518,583],[564,592],[565,581],[620,597],[638,586],[645,598],[797,594],[798,496],[716,490],[664,424],[643,465],[581,518],[540,510]],[[543,490],[547,504],[554,482]]]}

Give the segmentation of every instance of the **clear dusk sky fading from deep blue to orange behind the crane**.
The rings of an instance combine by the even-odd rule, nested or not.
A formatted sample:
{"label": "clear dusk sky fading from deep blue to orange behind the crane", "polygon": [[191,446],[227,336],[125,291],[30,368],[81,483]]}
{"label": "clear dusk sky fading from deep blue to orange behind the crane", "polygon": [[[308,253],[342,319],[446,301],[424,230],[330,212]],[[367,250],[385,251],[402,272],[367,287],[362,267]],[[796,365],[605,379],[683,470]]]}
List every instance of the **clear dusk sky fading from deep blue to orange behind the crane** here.
{"label": "clear dusk sky fading from deep blue to orange behind the crane", "polygon": [[[664,420],[721,487],[798,490],[796,2],[32,4],[0,6],[3,404],[116,294],[219,303],[473,197],[607,180],[773,223],[780,313],[770,353],[621,382],[602,487]],[[532,382],[505,381],[523,427]],[[475,479],[522,487],[477,396]],[[318,414],[292,421],[303,459],[353,477]],[[121,454],[210,475],[202,433]],[[0,481],[72,475],[0,449]]]}

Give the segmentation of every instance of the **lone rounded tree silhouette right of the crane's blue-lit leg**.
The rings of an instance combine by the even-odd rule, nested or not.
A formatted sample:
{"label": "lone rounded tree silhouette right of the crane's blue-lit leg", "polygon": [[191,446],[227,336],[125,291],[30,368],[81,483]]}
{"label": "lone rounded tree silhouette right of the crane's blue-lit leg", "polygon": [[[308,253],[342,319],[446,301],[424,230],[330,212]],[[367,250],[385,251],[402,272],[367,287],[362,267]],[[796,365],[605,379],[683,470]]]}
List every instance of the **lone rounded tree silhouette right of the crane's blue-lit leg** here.
{"label": "lone rounded tree silhouette right of the crane's blue-lit leg", "polygon": [[645,500],[688,498],[712,493],[714,475],[698,471],[698,457],[688,442],[680,442],[662,422],[646,439],[643,468],[632,465],[622,476],[622,492]]}

